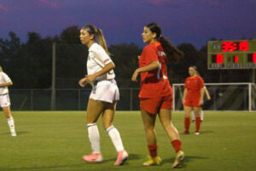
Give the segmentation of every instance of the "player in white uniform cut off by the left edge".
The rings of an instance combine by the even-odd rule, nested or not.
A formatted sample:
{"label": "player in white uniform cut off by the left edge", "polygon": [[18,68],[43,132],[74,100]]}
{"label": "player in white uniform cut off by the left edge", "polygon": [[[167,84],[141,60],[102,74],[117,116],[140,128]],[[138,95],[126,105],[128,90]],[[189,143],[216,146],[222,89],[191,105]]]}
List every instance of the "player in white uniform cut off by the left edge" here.
{"label": "player in white uniform cut off by the left edge", "polygon": [[9,130],[12,136],[16,136],[15,132],[15,120],[10,111],[10,100],[8,86],[13,85],[9,76],[3,72],[0,66],[0,105],[3,109],[3,114],[7,117],[7,123],[9,124]]}

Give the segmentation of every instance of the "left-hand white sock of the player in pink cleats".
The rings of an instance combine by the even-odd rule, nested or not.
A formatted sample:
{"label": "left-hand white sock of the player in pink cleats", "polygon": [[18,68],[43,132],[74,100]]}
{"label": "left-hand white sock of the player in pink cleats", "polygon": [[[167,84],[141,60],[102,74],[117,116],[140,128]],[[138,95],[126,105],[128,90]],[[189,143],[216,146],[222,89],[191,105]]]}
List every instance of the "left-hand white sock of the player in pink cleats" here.
{"label": "left-hand white sock of the player in pink cleats", "polygon": [[101,153],[100,134],[96,123],[87,124],[87,129],[92,153]]}

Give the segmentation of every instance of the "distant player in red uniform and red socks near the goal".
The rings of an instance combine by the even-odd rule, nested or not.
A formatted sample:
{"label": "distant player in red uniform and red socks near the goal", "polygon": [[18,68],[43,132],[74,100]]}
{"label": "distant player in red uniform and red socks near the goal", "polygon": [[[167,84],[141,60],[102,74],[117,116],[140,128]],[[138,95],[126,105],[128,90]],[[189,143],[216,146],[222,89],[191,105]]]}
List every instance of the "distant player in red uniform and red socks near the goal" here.
{"label": "distant player in red uniform and red socks near the goal", "polygon": [[184,105],[184,127],[185,131],[182,134],[189,134],[190,113],[192,109],[195,112],[195,132],[194,134],[200,134],[200,111],[201,105],[203,105],[204,95],[204,81],[197,75],[198,71],[196,66],[189,67],[189,76],[185,80],[184,93],[183,93],[183,105]]}

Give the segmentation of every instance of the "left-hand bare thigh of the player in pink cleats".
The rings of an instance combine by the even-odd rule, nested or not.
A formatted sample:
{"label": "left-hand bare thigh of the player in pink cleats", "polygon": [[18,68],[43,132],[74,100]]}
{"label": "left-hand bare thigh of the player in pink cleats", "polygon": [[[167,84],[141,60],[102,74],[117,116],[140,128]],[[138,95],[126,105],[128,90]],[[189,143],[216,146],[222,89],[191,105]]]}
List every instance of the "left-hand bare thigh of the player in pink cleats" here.
{"label": "left-hand bare thigh of the player in pink cleats", "polygon": [[104,104],[102,101],[90,99],[87,105],[86,123],[96,123],[98,117],[102,114]]}

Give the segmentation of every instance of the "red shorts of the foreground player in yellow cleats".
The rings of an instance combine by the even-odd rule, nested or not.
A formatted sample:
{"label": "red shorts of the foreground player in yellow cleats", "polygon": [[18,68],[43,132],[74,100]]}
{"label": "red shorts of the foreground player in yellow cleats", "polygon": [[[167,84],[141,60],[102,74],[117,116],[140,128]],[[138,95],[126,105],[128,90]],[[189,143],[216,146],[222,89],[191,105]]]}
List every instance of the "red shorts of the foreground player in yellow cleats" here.
{"label": "red shorts of the foreground player in yellow cleats", "polygon": [[172,95],[159,98],[141,98],[141,110],[148,111],[150,114],[156,114],[160,109],[172,109]]}

